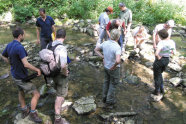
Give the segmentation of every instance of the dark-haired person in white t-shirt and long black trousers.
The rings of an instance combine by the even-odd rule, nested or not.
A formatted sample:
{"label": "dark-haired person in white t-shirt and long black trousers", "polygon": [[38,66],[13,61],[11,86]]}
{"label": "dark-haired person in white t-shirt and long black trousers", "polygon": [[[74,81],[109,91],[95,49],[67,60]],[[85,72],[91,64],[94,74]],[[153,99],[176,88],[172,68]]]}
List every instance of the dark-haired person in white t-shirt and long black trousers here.
{"label": "dark-haired person in white t-shirt and long black trousers", "polygon": [[160,38],[157,44],[157,49],[155,52],[155,61],[153,64],[154,82],[155,90],[151,97],[154,101],[159,101],[163,98],[164,88],[163,88],[163,77],[162,73],[165,71],[169,63],[169,57],[175,53],[175,42],[168,38],[169,34],[167,30],[162,29],[158,32],[158,37]]}

